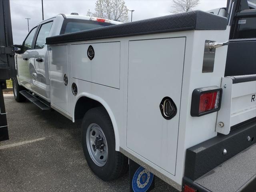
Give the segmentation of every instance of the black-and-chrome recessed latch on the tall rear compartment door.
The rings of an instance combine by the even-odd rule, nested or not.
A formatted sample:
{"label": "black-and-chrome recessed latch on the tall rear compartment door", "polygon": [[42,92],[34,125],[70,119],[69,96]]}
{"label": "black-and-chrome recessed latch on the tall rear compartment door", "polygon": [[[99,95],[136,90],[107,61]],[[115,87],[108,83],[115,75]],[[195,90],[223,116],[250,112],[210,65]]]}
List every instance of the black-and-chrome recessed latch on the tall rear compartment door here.
{"label": "black-and-chrome recessed latch on the tall rear compartment door", "polygon": [[163,98],[159,108],[162,116],[167,120],[172,119],[177,114],[177,107],[170,97]]}

